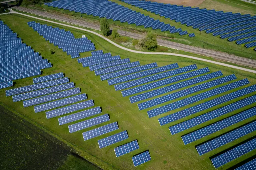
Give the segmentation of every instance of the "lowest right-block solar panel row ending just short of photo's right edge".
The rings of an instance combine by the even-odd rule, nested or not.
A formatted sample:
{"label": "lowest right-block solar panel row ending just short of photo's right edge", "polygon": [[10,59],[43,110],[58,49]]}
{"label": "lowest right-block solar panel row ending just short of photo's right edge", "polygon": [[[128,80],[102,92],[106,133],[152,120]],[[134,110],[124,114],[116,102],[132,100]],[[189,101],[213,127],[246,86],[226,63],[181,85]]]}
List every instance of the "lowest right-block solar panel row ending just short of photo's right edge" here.
{"label": "lowest right-block solar panel row ending just short of photo's right edge", "polygon": [[[159,107],[159,108],[147,111],[147,113],[148,113],[148,116],[151,118],[151,117],[154,117],[154,116],[157,116],[157,115],[169,112],[171,110],[174,110],[174,109],[177,109],[177,108],[180,108],[180,107],[183,107],[183,106],[195,103],[197,101],[201,101],[201,100],[207,99],[207,98],[215,96],[217,94],[221,94],[221,93],[227,92],[227,91],[235,89],[237,87],[241,87],[241,86],[246,85],[246,84],[249,84],[249,81],[247,79],[239,80],[239,81],[236,81],[234,83],[230,83],[230,84],[218,87],[216,89],[212,89],[212,90],[206,91],[204,93],[200,93],[200,94],[197,94],[195,96],[191,96],[191,97],[188,97],[186,99],[182,99],[182,100],[179,100],[177,102],[170,103],[168,105],[165,105],[165,106],[162,106],[162,107]],[[159,122],[167,122],[167,121],[165,121],[165,119],[166,119],[165,117],[162,118],[162,119],[163,120],[159,120]]]}

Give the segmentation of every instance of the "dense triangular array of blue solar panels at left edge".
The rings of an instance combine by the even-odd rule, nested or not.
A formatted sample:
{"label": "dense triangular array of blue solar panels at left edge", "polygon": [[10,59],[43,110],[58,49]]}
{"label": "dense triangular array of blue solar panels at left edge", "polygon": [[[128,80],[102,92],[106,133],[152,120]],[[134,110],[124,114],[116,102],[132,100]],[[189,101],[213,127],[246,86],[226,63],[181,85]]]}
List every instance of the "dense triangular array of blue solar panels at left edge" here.
{"label": "dense triangular array of blue solar panels at left edge", "polygon": [[31,46],[22,43],[3,21],[0,21],[0,42],[1,89],[13,86],[12,80],[40,75],[40,69],[52,67]]}

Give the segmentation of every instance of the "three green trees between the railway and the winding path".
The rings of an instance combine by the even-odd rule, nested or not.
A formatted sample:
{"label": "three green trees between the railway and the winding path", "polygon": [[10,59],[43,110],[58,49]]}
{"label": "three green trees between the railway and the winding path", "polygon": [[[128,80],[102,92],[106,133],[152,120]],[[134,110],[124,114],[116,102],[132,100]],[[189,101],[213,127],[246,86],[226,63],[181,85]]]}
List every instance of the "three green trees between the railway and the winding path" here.
{"label": "three green trees between the railway and the winding path", "polygon": [[[102,31],[104,36],[108,36],[110,34],[110,27],[106,18],[101,19],[100,30]],[[119,37],[117,29],[112,30],[111,36],[112,36],[112,39]],[[138,45],[141,48],[144,48],[147,50],[151,50],[151,51],[155,50],[157,48],[156,35],[153,34],[152,32],[149,32],[145,38],[141,39],[138,42]]]}

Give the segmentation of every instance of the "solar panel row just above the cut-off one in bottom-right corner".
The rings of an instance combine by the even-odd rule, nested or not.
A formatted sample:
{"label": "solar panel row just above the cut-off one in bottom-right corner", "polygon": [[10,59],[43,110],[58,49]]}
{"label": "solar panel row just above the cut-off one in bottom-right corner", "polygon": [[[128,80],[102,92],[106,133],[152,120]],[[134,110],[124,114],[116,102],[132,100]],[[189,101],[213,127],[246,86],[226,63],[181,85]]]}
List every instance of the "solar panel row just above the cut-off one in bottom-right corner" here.
{"label": "solar panel row just above the cut-off one in bottom-right corner", "polygon": [[256,138],[245,142],[219,156],[216,156],[211,159],[215,168],[218,168],[226,163],[256,149]]}

